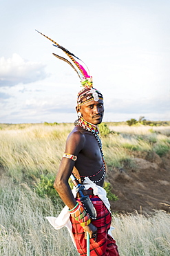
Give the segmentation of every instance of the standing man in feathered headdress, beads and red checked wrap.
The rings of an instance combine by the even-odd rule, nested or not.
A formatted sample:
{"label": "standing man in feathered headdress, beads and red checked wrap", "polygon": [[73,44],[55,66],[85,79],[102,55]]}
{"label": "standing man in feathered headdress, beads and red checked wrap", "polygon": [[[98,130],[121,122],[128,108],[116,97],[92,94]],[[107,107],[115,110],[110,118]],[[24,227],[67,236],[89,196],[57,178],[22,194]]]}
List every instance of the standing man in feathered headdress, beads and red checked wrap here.
{"label": "standing man in feathered headdress, beads and red checked wrap", "polygon": [[[47,37],[47,39],[50,38]],[[80,59],[52,39],[50,41],[70,57],[73,64],[53,53],[55,57],[74,68],[84,88],[78,93],[76,106],[78,120],[67,138],[65,153],[54,182],[54,188],[65,203],[65,208],[58,218],[47,217],[47,219],[55,229],[67,226],[80,255],[87,254],[85,235],[89,232],[91,256],[118,256],[116,241],[108,233],[111,212],[103,189],[105,161],[98,131],[98,124],[102,122],[104,113],[103,95],[93,88],[92,77],[76,61]],[[83,194],[91,199],[96,209],[96,219],[90,218],[79,199],[79,194],[75,191],[74,194],[72,193],[68,183],[71,174],[74,174],[76,179],[85,186]]]}

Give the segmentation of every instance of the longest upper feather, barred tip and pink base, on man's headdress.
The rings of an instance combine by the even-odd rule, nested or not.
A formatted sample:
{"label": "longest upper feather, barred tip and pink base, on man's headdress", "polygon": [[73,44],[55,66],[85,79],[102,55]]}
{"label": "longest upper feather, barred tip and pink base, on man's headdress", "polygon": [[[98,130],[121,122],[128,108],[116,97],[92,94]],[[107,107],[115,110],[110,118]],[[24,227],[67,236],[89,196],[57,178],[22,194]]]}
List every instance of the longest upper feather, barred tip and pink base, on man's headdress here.
{"label": "longest upper feather, barred tip and pink base, on man's headdress", "polygon": [[[40,33],[41,35],[43,35],[43,33],[39,32],[38,30],[36,30],[38,33]],[[83,75],[82,78],[89,78],[90,76],[87,74],[87,71],[85,71],[85,68],[83,68],[83,66],[81,66],[81,64],[79,64],[78,62],[76,62],[76,60],[74,59],[74,57],[76,57],[73,53],[70,53],[70,51],[68,51],[67,49],[65,49],[63,46],[60,46],[59,44],[57,44],[54,40],[52,40],[50,37],[47,37],[46,35],[43,35],[44,37],[46,37],[47,39],[49,39],[50,41],[52,41],[54,43],[54,46],[61,48],[61,50],[63,50],[65,52],[65,54],[67,54],[68,57],[70,57],[70,59],[72,60],[72,62],[74,62],[74,64],[77,66],[77,68],[79,69],[79,71],[81,71],[81,74]],[[74,57],[73,57],[74,56]],[[79,59],[78,57],[76,57],[76,59]],[[83,62],[81,60],[81,62]],[[84,62],[83,62],[84,63]]]}

